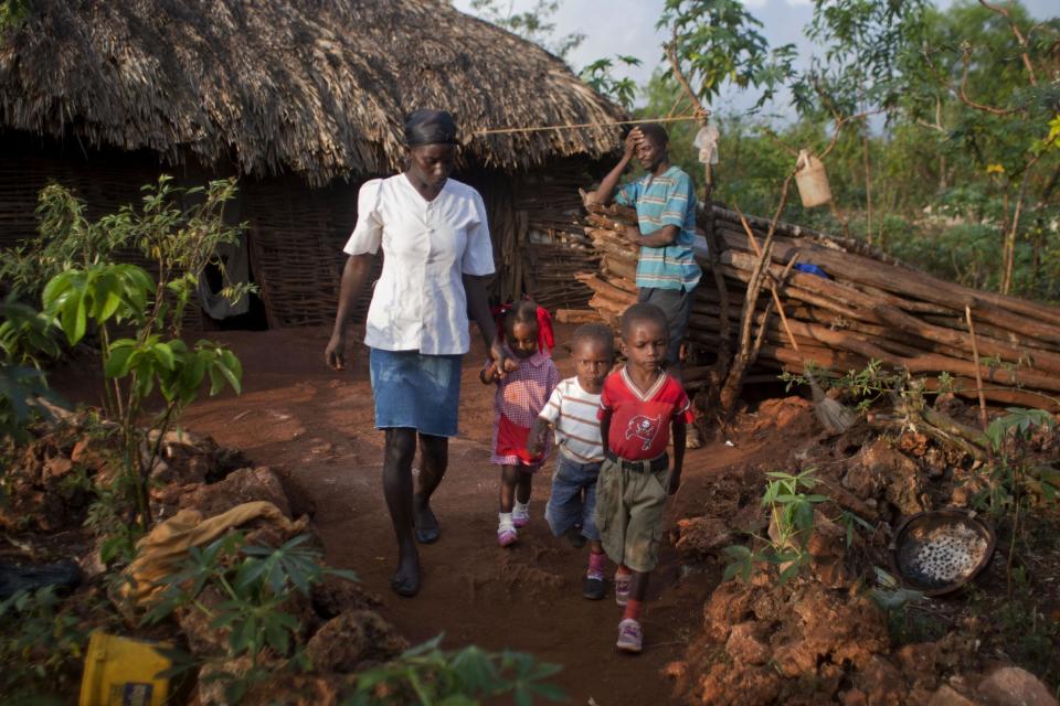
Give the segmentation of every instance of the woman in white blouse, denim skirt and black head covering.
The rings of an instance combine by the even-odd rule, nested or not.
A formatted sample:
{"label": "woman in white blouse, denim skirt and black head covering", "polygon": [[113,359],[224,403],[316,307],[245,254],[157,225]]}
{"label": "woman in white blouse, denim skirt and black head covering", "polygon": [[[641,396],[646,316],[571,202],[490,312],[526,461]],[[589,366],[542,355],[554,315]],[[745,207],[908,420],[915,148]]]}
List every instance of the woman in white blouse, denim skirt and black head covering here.
{"label": "woman in white blouse, denim skirt and black head covering", "polygon": [[[416,542],[438,538],[430,501],[445,475],[448,438],[457,432],[460,363],[470,346],[468,314],[502,370],[508,355],[496,340],[486,293],[486,278],[494,274],[486,208],[478,192],[449,179],[457,145],[453,116],[412,113],[405,142],[407,169],[361,186],[325,356],[336,370],[344,366],[347,323],[382,247],[383,272],[372,292],[364,344],[375,428],[385,434],[383,494],[398,536],[398,569],[390,585],[400,596],[415,596]],[[413,493],[417,437],[422,468]]]}

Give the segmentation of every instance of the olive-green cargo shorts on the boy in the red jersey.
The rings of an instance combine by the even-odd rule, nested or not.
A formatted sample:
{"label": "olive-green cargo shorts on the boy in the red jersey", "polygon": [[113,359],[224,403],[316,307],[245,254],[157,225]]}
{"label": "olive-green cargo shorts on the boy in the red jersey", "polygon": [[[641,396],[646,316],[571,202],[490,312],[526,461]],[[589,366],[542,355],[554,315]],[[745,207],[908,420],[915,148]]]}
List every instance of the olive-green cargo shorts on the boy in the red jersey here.
{"label": "olive-green cargo shorts on the boy in the red jersey", "polygon": [[[650,571],[659,560],[662,511],[669,485],[669,463],[640,470],[630,461],[604,459],[596,480],[596,527],[604,552],[615,564]],[[656,466],[659,466],[656,463]]]}

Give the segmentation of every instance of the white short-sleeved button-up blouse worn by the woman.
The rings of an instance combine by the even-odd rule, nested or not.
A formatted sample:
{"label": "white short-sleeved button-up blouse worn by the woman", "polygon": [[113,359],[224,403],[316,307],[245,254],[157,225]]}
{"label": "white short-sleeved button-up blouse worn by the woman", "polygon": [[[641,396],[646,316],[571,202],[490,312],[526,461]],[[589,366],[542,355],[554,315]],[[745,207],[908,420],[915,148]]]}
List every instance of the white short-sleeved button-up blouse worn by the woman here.
{"label": "white short-sleeved button-up blouse worn by the woman", "polygon": [[368,309],[365,345],[427,355],[467,353],[462,276],[494,272],[478,192],[449,179],[427,201],[404,174],[365,182],[357,200],[357,227],[342,249],[374,255],[380,245],[383,274]]}

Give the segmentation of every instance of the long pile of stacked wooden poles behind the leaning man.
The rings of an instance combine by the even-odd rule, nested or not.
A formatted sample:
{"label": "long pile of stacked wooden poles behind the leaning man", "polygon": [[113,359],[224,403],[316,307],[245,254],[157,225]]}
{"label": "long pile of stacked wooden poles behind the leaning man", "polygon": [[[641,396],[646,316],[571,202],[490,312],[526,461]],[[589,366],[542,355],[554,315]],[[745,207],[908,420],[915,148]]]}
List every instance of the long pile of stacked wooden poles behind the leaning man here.
{"label": "long pile of stacked wooden poles behind the leaning man", "polygon": [[[876,359],[932,378],[948,373],[957,392],[969,398],[982,392],[993,403],[1060,410],[1060,309],[943,281],[865,244],[785,223],[776,224],[770,247],[767,252],[763,247],[760,257],[739,214],[714,206],[711,216],[724,248],[717,255],[725,296],[748,301],[749,287],[761,288],[765,276],[784,282],[781,300],[799,350],[794,350],[780,321],[766,315],[767,298],[757,295],[751,298],[754,307],[748,315],[754,322],[751,328],[761,325],[761,342],[755,344],[757,336],[746,333],[749,319],[735,307],[729,310],[723,340],[721,297],[714,287],[701,284],[686,336],[688,387],[707,384],[707,363],[728,342],[738,353],[757,347],[745,371],[748,382],[775,379],[782,370],[803,372],[806,364],[840,373],[860,370]],[[632,210],[619,206],[595,208],[585,218],[584,234],[601,264],[576,278],[592,290],[589,306],[610,323],[636,300],[637,253],[616,228],[635,221]],[[754,217],[748,222],[764,245],[770,223]],[[697,255],[707,284],[706,242],[697,244]],[[796,259],[798,265],[789,269]],[[966,308],[975,321],[974,334]],[[749,340],[754,345],[741,345]]]}

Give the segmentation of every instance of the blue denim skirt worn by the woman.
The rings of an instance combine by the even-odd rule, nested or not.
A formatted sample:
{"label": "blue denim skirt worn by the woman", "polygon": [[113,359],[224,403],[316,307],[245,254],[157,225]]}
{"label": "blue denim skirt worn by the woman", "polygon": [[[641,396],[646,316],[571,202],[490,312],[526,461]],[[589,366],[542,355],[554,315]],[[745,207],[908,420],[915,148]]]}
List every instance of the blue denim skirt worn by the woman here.
{"label": "blue denim skirt worn by the woman", "polygon": [[375,428],[455,437],[463,357],[369,349]]}

